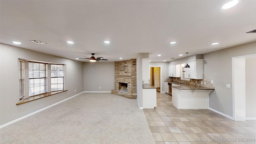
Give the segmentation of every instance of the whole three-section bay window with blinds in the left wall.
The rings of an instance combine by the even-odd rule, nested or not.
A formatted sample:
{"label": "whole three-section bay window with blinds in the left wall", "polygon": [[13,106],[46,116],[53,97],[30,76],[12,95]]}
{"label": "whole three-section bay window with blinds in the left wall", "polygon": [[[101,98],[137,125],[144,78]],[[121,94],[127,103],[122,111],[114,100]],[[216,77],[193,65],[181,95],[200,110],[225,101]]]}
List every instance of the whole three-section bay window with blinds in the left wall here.
{"label": "whole three-section bay window with blinds in the left wall", "polygon": [[[64,90],[64,65],[19,60],[20,102]],[[28,101],[29,101],[28,100]]]}

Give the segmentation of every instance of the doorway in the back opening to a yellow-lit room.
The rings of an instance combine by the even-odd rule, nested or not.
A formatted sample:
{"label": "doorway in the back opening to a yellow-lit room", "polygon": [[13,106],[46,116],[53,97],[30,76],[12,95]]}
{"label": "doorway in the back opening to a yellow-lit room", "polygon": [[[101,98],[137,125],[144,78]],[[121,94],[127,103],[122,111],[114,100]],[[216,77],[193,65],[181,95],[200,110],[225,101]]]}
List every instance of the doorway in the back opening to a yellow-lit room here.
{"label": "doorway in the back opening to a yellow-lit room", "polygon": [[161,67],[150,66],[150,84],[156,87],[158,92],[161,92]]}

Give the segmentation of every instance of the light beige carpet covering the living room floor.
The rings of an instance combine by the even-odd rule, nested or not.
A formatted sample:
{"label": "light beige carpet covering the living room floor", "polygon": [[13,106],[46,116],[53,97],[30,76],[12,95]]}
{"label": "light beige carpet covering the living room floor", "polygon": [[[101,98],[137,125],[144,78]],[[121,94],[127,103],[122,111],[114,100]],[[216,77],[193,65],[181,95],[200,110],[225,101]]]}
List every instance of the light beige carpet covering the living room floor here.
{"label": "light beige carpet covering the living room floor", "polygon": [[155,144],[136,99],[83,93],[0,129],[1,144]]}

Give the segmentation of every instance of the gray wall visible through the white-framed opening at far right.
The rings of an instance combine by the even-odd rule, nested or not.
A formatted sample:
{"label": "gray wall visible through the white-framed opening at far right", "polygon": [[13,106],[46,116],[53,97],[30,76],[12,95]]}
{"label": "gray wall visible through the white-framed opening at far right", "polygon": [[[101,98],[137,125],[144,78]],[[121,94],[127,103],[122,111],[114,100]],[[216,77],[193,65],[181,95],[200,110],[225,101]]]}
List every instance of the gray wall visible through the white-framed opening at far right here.
{"label": "gray wall visible through the white-framed opening at far right", "polygon": [[256,57],[246,58],[245,60],[245,74],[246,74],[246,117],[256,118]]}

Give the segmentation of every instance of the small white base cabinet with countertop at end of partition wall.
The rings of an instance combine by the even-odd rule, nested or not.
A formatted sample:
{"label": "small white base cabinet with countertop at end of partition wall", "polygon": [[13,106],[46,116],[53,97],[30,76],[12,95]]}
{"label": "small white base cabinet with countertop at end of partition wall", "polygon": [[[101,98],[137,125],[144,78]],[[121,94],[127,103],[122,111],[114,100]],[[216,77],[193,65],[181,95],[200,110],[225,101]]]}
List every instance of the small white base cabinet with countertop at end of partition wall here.
{"label": "small white base cabinet with countertop at end of partition wall", "polygon": [[156,87],[149,84],[143,84],[142,102],[143,108],[156,107]]}

